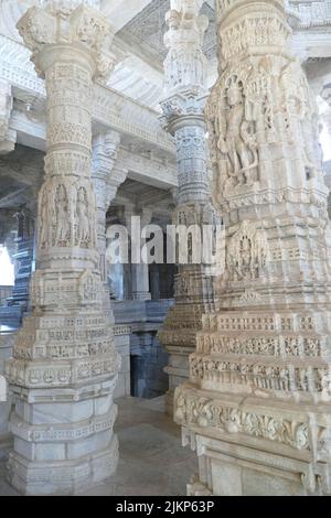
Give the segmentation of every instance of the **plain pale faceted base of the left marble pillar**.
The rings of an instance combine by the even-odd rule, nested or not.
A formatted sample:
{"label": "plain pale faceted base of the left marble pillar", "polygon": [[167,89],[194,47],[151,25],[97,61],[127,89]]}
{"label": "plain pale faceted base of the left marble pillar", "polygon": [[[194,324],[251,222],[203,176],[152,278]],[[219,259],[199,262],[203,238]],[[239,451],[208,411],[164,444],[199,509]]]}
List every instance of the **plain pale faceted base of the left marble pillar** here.
{"label": "plain pale faceted base of the left marble pillar", "polygon": [[7,478],[18,492],[74,495],[114,474],[118,462],[118,440],[113,431],[116,381],[114,377],[71,396],[56,389],[28,392],[28,399],[17,393],[10,417],[14,442]]}

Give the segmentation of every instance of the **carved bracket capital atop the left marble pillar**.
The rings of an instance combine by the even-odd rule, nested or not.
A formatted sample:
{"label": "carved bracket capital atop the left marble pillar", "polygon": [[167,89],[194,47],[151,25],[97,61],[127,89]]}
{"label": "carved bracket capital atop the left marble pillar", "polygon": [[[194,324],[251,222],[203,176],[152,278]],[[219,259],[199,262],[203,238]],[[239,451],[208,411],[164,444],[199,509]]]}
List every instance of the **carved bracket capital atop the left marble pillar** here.
{"label": "carved bracket capital atop the left marble pillar", "polygon": [[88,60],[94,77],[106,77],[115,66],[110,52],[114,31],[100,12],[76,2],[47,2],[30,8],[18,23],[32,51],[36,73],[45,72],[61,54],[64,62]]}

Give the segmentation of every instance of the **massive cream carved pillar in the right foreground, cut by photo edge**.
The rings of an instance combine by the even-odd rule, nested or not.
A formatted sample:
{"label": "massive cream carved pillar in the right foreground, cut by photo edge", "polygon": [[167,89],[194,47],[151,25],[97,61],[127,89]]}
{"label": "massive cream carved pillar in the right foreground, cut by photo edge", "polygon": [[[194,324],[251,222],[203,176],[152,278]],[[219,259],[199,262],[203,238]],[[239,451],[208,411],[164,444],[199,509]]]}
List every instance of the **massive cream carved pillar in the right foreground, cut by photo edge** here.
{"label": "massive cream carved pillar in the right foreground, cut by photo edge", "polygon": [[206,114],[226,268],[175,392],[199,455],[189,493],[327,495],[330,228],[317,107],[288,52],[282,0],[216,8],[220,78]]}

